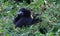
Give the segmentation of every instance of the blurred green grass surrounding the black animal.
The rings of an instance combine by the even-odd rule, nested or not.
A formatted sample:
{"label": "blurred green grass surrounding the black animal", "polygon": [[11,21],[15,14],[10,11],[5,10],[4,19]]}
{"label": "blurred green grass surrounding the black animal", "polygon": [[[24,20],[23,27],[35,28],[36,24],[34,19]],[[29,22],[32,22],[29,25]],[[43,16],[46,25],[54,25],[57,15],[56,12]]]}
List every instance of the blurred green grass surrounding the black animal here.
{"label": "blurred green grass surrounding the black animal", "polygon": [[[0,0],[0,36],[60,36],[60,0],[33,1],[26,4]],[[13,19],[22,7],[31,9],[32,13],[42,13],[40,17],[43,21],[30,27],[15,29]],[[39,27],[45,27],[48,32],[42,34]]]}

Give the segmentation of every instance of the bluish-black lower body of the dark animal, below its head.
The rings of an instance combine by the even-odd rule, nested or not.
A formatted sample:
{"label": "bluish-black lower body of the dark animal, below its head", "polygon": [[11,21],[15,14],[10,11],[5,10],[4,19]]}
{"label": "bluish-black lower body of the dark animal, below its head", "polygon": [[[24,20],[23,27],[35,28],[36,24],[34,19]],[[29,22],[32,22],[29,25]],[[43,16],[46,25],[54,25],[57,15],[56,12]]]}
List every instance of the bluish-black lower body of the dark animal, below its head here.
{"label": "bluish-black lower body of the dark animal, below its head", "polygon": [[23,17],[16,23],[15,28],[32,25],[32,18]]}

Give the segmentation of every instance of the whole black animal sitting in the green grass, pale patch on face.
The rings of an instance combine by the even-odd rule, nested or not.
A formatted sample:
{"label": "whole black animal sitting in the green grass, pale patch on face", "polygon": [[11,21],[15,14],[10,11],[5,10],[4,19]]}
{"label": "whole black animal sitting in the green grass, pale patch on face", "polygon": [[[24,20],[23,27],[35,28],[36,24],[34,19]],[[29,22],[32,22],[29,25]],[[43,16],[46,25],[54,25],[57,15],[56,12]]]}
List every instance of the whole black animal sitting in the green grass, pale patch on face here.
{"label": "whole black animal sitting in the green grass, pale patch on face", "polygon": [[29,9],[21,8],[17,14],[17,17],[14,19],[15,28],[29,26],[42,21],[39,20],[39,18],[35,19],[35,17],[31,17],[31,11]]}

